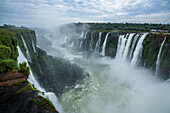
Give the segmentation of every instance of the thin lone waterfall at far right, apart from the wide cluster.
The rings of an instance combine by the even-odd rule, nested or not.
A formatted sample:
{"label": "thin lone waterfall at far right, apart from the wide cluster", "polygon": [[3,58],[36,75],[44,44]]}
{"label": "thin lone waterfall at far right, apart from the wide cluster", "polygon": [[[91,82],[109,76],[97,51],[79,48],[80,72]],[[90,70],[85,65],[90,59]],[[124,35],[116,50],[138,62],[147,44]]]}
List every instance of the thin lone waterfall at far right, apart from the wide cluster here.
{"label": "thin lone waterfall at far right, apart from the wide cluster", "polygon": [[166,41],[166,37],[167,37],[167,36],[165,36],[165,38],[164,38],[164,40],[163,40],[163,42],[162,42],[162,44],[161,44],[161,47],[160,47],[160,49],[159,49],[159,53],[158,53],[158,56],[157,56],[157,60],[156,60],[156,71],[155,71],[155,75],[156,75],[156,76],[158,76],[159,64],[160,64],[160,56],[161,56],[161,52],[162,52],[163,45],[164,45],[164,43],[165,43],[165,41]]}

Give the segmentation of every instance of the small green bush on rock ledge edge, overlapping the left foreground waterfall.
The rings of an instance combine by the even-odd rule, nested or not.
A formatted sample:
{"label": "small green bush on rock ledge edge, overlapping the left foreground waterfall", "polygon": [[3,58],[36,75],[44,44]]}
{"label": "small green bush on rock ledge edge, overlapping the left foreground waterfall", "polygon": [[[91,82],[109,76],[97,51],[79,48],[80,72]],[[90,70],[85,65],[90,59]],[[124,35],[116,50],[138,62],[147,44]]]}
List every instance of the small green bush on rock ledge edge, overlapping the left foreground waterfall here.
{"label": "small green bush on rock ledge edge, overlapping the left foreground waterfall", "polygon": [[19,72],[22,72],[24,75],[28,76],[30,74],[29,67],[27,66],[26,62],[19,64]]}

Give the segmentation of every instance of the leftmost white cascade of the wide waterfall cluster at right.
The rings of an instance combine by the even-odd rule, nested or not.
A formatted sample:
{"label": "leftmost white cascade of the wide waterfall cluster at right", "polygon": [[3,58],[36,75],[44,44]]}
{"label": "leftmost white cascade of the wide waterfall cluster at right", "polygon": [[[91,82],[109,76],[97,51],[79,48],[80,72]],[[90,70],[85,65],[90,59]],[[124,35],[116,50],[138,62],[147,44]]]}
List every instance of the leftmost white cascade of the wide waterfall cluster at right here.
{"label": "leftmost white cascade of the wide waterfall cluster at right", "polygon": [[123,56],[125,44],[126,44],[126,37],[125,35],[120,35],[119,36],[119,42],[118,42],[118,49],[116,53],[116,59],[121,59]]}

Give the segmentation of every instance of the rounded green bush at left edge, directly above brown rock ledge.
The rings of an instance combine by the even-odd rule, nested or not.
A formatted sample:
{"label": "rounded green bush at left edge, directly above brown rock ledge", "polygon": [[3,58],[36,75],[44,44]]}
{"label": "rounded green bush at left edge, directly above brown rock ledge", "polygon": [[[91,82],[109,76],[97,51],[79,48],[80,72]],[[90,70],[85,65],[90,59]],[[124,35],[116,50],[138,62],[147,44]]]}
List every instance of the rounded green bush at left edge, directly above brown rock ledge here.
{"label": "rounded green bush at left edge, directly above brown rock ledge", "polygon": [[17,69],[17,61],[13,59],[0,60],[0,73]]}

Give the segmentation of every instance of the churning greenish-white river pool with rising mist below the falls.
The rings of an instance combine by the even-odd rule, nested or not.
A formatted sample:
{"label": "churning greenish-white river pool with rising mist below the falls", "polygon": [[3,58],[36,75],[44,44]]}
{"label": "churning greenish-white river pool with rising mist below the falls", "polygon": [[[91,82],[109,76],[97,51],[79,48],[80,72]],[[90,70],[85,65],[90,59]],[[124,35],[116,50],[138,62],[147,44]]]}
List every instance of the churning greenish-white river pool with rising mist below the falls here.
{"label": "churning greenish-white river pool with rising mist below the falls", "polygon": [[74,60],[90,73],[60,97],[66,113],[169,113],[170,83],[109,58]]}

